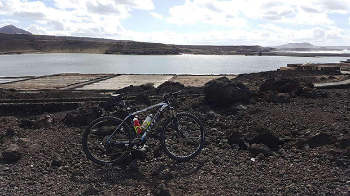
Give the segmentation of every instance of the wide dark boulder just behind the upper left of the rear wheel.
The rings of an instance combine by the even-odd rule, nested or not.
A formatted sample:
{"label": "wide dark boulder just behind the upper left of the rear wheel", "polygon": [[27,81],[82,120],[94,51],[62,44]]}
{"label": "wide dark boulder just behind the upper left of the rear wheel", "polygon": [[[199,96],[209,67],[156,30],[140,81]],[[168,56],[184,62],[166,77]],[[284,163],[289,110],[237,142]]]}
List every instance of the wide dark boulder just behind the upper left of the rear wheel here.
{"label": "wide dark boulder just behind the upper left of the rear wheel", "polygon": [[87,102],[77,110],[69,112],[64,117],[64,122],[68,124],[89,125],[89,123],[102,116],[102,109],[98,104]]}

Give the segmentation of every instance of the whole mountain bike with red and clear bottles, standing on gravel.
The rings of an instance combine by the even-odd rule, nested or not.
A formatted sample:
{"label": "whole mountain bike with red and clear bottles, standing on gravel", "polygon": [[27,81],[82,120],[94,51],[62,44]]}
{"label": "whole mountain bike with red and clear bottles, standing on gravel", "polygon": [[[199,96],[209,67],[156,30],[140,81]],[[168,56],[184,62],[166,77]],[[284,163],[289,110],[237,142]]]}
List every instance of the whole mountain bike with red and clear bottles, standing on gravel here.
{"label": "whole mountain bike with red and clear bottles, standing on gravel", "polygon": [[[205,130],[196,116],[188,113],[175,113],[169,99],[174,99],[174,96],[179,92],[162,94],[163,101],[161,103],[133,113],[130,113],[130,108],[127,107],[123,99],[123,95],[127,95],[127,92],[112,94],[112,103],[115,105],[119,101],[128,115],[124,120],[114,116],[103,116],[92,121],[86,127],[82,144],[87,158],[100,165],[120,163],[130,152],[143,148],[147,141],[147,134],[166,108],[169,109],[170,117],[165,120],[161,131],[163,151],[168,157],[177,161],[187,161],[196,157],[203,148]],[[141,112],[156,107],[160,108],[149,122],[148,127],[138,134],[137,128],[134,127],[133,118]],[[131,127],[134,129],[133,131]]]}

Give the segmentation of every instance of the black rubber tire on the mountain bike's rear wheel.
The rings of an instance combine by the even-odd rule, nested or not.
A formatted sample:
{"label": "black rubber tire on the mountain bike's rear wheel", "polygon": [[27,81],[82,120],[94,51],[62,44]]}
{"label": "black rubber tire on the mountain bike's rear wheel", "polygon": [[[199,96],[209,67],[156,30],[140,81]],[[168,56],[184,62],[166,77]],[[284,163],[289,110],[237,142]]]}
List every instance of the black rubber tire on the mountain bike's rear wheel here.
{"label": "black rubber tire on the mountain bike's rear wheel", "polygon": [[[84,150],[84,153],[86,154],[87,158],[90,159],[92,162],[94,163],[97,163],[99,165],[114,165],[114,164],[117,164],[117,163],[120,163],[121,161],[123,161],[129,153],[125,152],[120,158],[116,159],[116,160],[113,160],[113,161],[104,161],[104,160],[100,160],[100,159],[97,159],[95,158],[90,150],[88,149],[88,146],[87,146],[87,137],[91,131],[91,128],[96,126],[98,123],[102,122],[102,121],[107,121],[107,120],[110,120],[110,121],[114,121],[116,123],[116,125],[120,125],[120,123],[122,123],[123,121],[119,118],[116,118],[114,116],[103,116],[103,117],[100,117],[98,119],[95,119],[94,121],[92,121],[85,129],[84,131],[84,134],[83,134],[83,137],[82,137],[82,145],[83,145],[83,150]],[[131,142],[132,140],[135,138],[135,135],[133,134],[133,132],[131,131],[130,127],[128,125],[126,125],[126,123],[124,122],[123,125],[123,130],[127,133],[128,135],[128,139],[129,139],[129,145],[127,146],[127,149],[126,151],[130,151],[133,147],[133,145],[131,145]],[[117,127],[116,127],[117,128]]]}

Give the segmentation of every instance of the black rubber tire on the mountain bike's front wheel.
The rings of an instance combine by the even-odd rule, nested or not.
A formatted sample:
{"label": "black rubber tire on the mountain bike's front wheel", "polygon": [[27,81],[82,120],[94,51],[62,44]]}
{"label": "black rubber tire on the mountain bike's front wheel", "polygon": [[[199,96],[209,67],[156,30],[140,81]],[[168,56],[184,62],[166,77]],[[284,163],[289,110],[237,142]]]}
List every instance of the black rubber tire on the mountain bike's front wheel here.
{"label": "black rubber tire on the mountain bike's front wheel", "polygon": [[176,161],[188,161],[190,159],[193,159],[197,156],[198,153],[201,152],[203,146],[204,146],[204,143],[205,143],[205,129],[203,127],[203,124],[201,123],[201,121],[194,115],[192,114],[189,114],[189,113],[178,113],[176,114],[176,118],[181,118],[181,117],[188,117],[188,118],[191,118],[193,119],[198,125],[199,125],[199,128],[200,128],[200,132],[201,132],[201,136],[200,136],[200,145],[199,147],[196,149],[195,152],[191,153],[189,156],[186,156],[186,157],[179,157],[179,156],[176,156],[175,154],[173,154],[172,152],[170,152],[166,146],[166,137],[165,137],[165,134],[166,134],[166,129],[167,127],[169,126],[170,122],[172,122],[175,117],[170,117],[169,119],[166,120],[166,122],[164,123],[163,125],[163,128],[162,128],[162,132],[161,132],[161,145],[162,145],[162,149],[164,150],[164,152],[167,154],[168,157],[170,157],[171,159],[174,159]]}

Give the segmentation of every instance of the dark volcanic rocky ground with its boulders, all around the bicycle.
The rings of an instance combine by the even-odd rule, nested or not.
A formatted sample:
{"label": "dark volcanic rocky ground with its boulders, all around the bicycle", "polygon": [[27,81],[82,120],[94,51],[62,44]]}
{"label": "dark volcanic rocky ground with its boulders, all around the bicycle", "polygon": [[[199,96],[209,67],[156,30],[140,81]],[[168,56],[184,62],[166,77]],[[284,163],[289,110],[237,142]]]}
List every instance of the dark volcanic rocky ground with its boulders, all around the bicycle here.
{"label": "dark volcanic rocky ground with its boulders, all around the bicycle", "polygon": [[[206,95],[177,100],[176,111],[195,114],[207,130],[202,152],[183,163],[159,151],[162,119],[146,153],[99,166],[83,153],[83,120],[121,115],[118,107],[87,103],[10,117],[2,111],[0,195],[350,195],[350,89],[316,90],[314,79],[302,77],[274,71],[223,78],[204,88],[168,85],[183,89],[182,95]],[[153,95],[166,90],[131,88]],[[225,98],[230,96],[235,99]],[[137,100],[135,108],[151,101]]]}

